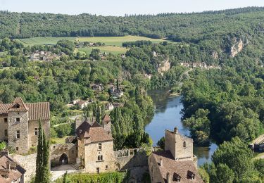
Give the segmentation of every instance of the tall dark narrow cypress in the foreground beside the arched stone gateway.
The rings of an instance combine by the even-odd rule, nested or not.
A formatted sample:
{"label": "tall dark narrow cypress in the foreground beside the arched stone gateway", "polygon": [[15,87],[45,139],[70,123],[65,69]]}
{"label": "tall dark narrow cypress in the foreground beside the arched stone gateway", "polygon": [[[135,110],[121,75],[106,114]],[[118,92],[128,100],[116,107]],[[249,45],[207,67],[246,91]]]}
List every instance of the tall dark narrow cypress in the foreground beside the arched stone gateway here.
{"label": "tall dark narrow cypress in the foreground beside the arched stone gateway", "polygon": [[49,139],[46,138],[39,120],[39,136],[37,144],[36,177],[35,183],[49,183]]}

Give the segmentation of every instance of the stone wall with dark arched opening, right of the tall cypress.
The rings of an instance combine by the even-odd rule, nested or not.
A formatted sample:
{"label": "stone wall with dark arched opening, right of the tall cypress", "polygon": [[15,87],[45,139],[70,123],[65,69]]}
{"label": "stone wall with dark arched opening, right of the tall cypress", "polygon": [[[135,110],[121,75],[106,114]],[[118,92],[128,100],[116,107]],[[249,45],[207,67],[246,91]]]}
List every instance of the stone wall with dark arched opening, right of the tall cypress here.
{"label": "stone wall with dark arched opening, right of the tall cypress", "polygon": [[61,165],[60,158],[65,153],[68,163],[76,163],[77,146],[75,144],[51,144],[51,166]]}

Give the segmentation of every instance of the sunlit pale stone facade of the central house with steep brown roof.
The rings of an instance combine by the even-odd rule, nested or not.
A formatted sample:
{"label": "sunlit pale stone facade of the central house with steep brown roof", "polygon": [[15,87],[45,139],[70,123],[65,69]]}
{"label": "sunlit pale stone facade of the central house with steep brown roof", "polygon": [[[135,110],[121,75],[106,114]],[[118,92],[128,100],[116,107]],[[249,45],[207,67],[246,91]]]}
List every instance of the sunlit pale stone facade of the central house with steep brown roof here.
{"label": "sunlit pale stone facade of the central house with steep brown roof", "polygon": [[[115,156],[113,154],[113,141],[100,142],[102,149],[99,150],[99,144],[85,145],[85,172],[96,173],[96,168],[100,172],[115,170]],[[98,160],[98,156],[103,156],[103,160]],[[108,168],[106,168],[108,166]]]}

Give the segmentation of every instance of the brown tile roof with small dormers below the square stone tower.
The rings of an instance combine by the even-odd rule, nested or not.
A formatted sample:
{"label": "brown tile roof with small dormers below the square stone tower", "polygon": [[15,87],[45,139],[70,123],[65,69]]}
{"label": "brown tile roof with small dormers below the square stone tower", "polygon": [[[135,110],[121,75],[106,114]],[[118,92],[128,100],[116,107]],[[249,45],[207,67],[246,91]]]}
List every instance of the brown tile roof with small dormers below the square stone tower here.
{"label": "brown tile roof with small dormers below the square stone tower", "polygon": [[[171,175],[171,182],[177,182],[176,177],[180,175],[180,182],[191,182],[191,183],[199,183],[203,182],[201,179],[199,172],[197,171],[194,161],[192,160],[174,160],[170,151],[157,151],[153,152],[151,156],[154,157],[156,163],[158,164],[158,170],[161,172],[163,179],[165,180],[167,177],[167,173],[169,172]],[[163,165],[161,167],[160,162],[163,160]],[[193,172],[195,175],[195,179],[189,179],[189,174]]]}

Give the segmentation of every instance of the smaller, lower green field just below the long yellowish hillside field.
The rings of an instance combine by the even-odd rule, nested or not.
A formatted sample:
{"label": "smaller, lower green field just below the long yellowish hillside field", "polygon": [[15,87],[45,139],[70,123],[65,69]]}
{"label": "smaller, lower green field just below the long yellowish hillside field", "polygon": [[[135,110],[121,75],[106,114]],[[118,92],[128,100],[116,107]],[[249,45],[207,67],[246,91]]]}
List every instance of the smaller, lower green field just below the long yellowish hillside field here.
{"label": "smaller, lower green field just below the long yellowish hillside field", "polygon": [[95,46],[95,47],[80,48],[79,50],[89,54],[91,53],[92,49],[100,49],[102,53],[106,52],[106,53],[113,53],[113,54],[125,53],[128,50],[121,46]]}

